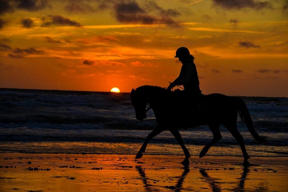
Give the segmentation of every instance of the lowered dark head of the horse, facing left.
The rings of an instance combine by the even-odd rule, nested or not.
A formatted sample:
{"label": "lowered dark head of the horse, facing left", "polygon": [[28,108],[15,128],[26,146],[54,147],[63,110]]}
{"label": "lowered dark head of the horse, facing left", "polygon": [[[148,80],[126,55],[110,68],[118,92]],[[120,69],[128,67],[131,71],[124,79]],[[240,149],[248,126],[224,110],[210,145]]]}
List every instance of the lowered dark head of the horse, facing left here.
{"label": "lowered dark head of the horse, facing left", "polygon": [[131,94],[131,104],[133,105],[136,113],[136,119],[143,121],[143,119],[146,119],[146,104],[147,101],[144,98],[143,93],[141,93],[139,90],[132,89]]}

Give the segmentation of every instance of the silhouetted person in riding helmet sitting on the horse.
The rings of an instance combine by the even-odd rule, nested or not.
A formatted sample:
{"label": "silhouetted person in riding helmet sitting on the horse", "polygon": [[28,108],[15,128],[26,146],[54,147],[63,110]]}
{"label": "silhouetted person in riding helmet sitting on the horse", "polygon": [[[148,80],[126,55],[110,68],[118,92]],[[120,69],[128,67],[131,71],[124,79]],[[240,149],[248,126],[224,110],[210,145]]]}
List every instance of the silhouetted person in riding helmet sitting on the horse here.
{"label": "silhouetted person in riding helmet sitting on the horse", "polygon": [[[202,94],[199,87],[199,78],[194,64],[194,57],[190,55],[189,50],[186,47],[180,47],[176,51],[175,58],[179,58],[182,63],[179,77],[177,77],[169,86],[170,91],[176,85],[183,85],[184,95],[189,98],[192,96],[194,99],[198,99]],[[182,91],[181,91],[182,92]]]}

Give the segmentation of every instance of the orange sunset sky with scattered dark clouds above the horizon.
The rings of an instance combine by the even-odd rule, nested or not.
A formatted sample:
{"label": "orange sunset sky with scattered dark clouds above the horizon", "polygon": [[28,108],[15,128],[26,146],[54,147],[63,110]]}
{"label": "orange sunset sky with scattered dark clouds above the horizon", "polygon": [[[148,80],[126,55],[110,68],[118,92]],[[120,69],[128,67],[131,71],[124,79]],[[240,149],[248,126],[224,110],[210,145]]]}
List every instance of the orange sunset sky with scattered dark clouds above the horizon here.
{"label": "orange sunset sky with scattered dark clouds above the horizon", "polygon": [[288,97],[287,0],[0,0],[0,88],[130,92],[195,57],[202,93]]}

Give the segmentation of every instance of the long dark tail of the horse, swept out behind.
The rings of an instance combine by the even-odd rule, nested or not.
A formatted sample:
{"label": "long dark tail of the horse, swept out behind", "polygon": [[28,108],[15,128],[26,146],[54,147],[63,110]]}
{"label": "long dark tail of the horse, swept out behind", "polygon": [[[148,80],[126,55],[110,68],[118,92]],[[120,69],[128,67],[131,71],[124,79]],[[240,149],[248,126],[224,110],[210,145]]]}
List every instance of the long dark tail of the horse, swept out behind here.
{"label": "long dark tail of the horse, swept out behind", "polygon": [[241,98],[238,98],[238,109],[241,120],[246,124],[249,132],[254,137],[254,139],[258,142],[268,142],[265,137],[261,137],[255,131],[249,110],[247,109],[245,102]]}

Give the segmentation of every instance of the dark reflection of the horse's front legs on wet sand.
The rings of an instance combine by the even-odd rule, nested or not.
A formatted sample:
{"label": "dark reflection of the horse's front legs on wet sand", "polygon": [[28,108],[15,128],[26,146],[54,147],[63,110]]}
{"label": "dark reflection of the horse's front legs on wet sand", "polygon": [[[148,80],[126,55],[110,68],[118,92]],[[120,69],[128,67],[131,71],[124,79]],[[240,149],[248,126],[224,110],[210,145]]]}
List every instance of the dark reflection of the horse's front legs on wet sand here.
{"label": "dark reflection of the horse's front legs on wet sand", "polygon": [[[163,191],[159,190],[155,187],[164,187],[160,185],[152,185],[148,183],[149,178],[146,176],[144,169],[141,166],[137,166],[136,170],[139,172],[141,179],[143,181],[144,187],[146,191],[153,192],[153,191]],[[183,182],[187,174],[189,173],[189,167],[183,167],[183,173],[179,177],[178,181],[176,182],[175,186],[165,186],[164,188],[171,189],[175,192],[180,192],[183,189]],[[152,180],[152,179],[150,179]]]}

